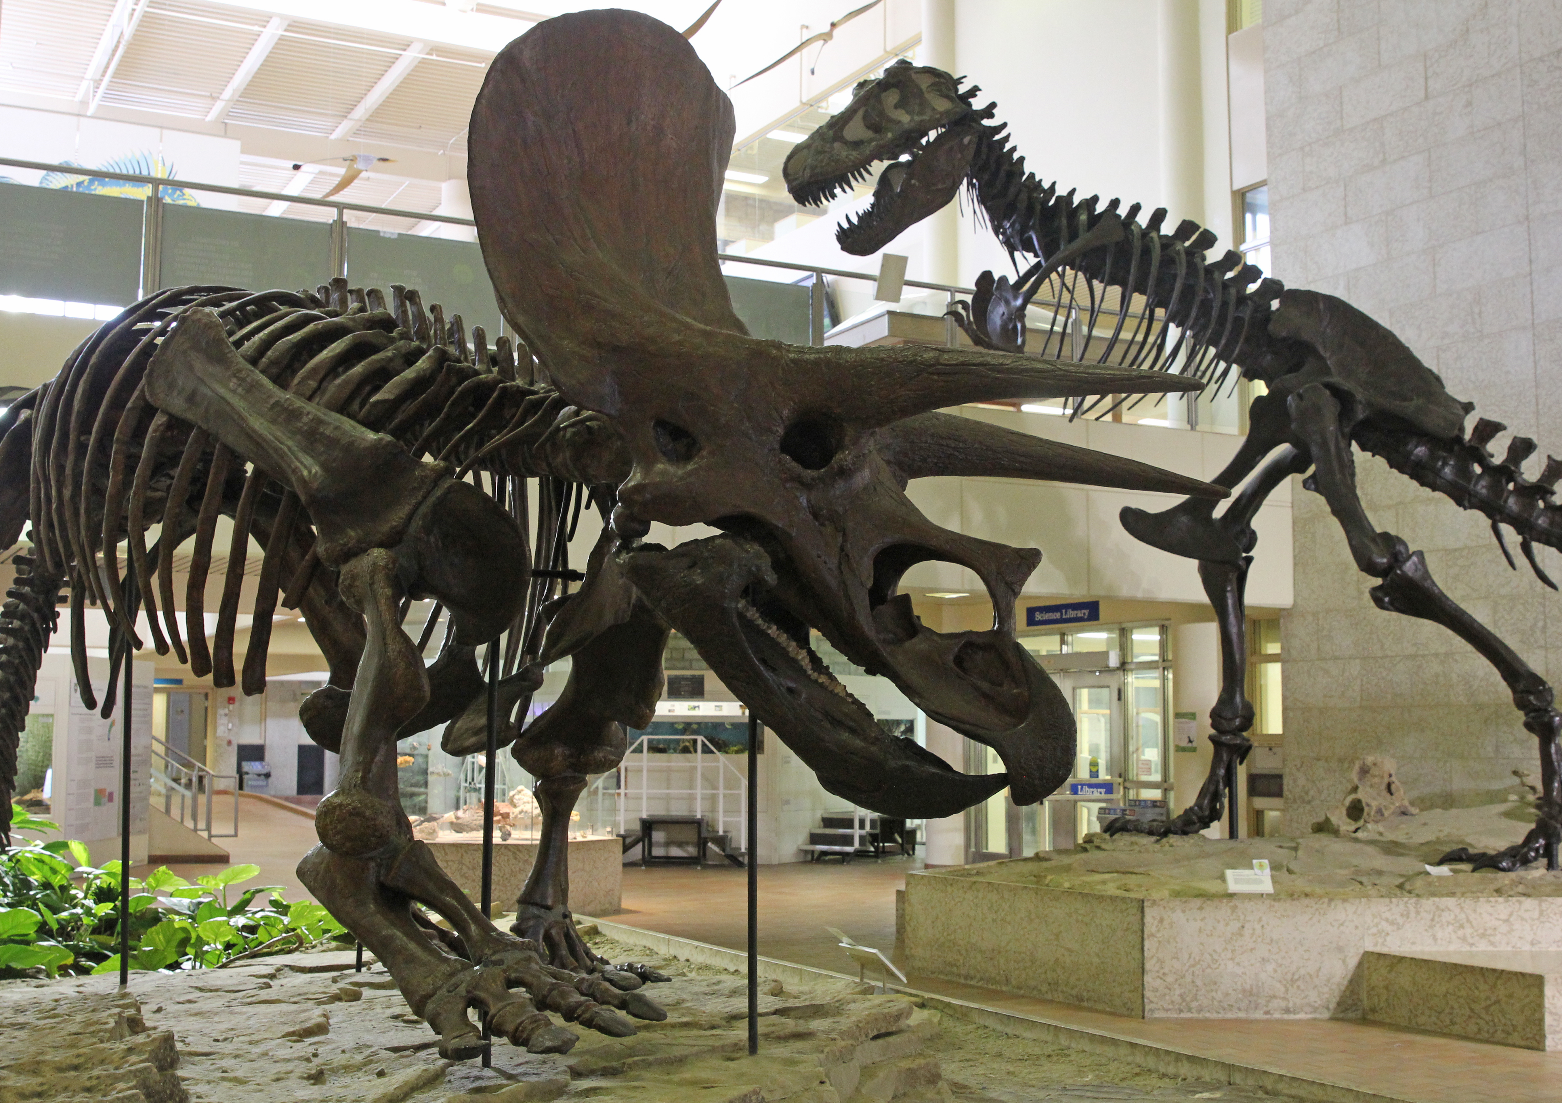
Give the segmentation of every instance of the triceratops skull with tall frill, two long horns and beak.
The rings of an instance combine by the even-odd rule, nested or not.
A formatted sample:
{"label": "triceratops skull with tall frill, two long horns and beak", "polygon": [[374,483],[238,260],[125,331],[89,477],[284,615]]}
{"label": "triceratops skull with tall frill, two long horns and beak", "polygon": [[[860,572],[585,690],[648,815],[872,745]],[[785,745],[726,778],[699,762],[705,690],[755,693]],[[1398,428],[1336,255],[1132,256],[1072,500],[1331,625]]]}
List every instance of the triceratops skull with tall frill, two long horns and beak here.
{"label": "triceratops skull with tall frill, two long horns and beak", "polygon": [[[617,569],[831,792],[908,817],[953,814],[1003,784],[1020,803],[1039,800],[1075,750],[1067,701],[1014,637],[1014,603],[1040,553],[939,528],[906,480],[989,470],[1209,487],[929,411],[1196,383],[948,348],[756,341],[717,262],[731,141],[731,105],[689,44],[625,11],[539,23],[495,58],[472,116],[472,200],[505,314],[564,395],[608,419],[629,461]],[[639,539],[650,522],[722,534],[667,550]],[[897,584],[928,559],[982,580],[990,630],[918,622]],[[967,776],[887,736],[809,648],[811,628],[997,748],[1007,772]]]}

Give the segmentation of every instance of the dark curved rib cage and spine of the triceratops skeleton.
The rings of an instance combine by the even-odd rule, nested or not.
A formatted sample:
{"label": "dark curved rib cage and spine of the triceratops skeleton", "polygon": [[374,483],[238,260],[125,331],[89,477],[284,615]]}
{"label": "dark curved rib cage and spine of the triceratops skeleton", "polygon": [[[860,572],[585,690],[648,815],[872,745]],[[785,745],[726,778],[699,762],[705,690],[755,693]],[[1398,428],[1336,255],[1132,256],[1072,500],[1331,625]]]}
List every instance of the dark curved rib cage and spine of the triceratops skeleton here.
{"label": "dark curved rib cage and spine of the triceratops skeleton", "polygon": [[[233,642],[250,536],[264,555],[242,666],[245,694],[266,686],[275,606],[297,608],[311,592],[334,597],[334,576],[312,555],[314,528],[298,498],[145,397],[142,377],[158,342],[183,312],[201,306],[217,312],[239,355],[272,383],[394,437],[415,458],[451,464],[509,509],[528,536],[525,480],[540,477],[537,566],[567,570],[562,530],[573,527],[572,514],[578,522],[587,497],[611,508],[609,491],[589,491],[615,484],[623,473],[604,423],[534,381],[530,353],[522,350],[517,359],[503,336],[490,348],[481,328],[469,344],[461,317],[447,322],[437,305],[425,311],[415,291],[392,286],[389,306],[383,292],[348,289],[345,280],[317,292],[198,286],[150,295],[94,333],[55,380],[0,420],[0,467],[9,458],[16,469],[19,459],[27,462],[23,450],[31,453],[25,514],[33,525],[34,576],[45,580],[39,584],[61,580],[70,587],[70,650],[89,708],[97,698],[84,609],[98,605],[108,616],[105,716],[128,650],[142,645],[137,611],[145,611],[159,655],[172,650],[197,676],[211,673],[216,686],[237,681]],[[203,606],[219,516],[233,519],[234,533],[208,645]],[[0,542],[14,544],[22,523],[0,503]],[[191,536],[181,633],[173,552]],[[526,614],[511,631],[506,672],[536,653],[540,609],[556,587],[555,576],[534,576]],[[437,617],[436,608],[423,630],[425,647]],[[25,719],[37,669],[33,656],[23,678],[27,664],[8,666],[6,647],[0,644],[0,786],[14,778],[16,736],[8,728],[12,714]],[[23,681],[28,692],[20,695]]]}

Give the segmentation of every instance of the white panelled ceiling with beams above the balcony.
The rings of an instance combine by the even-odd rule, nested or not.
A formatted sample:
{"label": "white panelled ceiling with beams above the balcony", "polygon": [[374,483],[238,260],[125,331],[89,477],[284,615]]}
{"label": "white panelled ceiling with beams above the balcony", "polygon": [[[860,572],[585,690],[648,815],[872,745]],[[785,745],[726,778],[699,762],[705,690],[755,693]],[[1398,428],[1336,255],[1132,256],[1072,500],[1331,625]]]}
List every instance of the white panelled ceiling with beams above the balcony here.
{"label": "white panelled ceiling with beams above the balcony", "polygon": [[[619,0],[678,28],[698,19],[708,3]],[[887,3],[909,8],[903,0]],[[264,191],[319,197],[339,170],[295,173],[294,162],[334,166],[333,158],[351,153],[389,156],[392,162],[361,177],[344,198],[433,211],[440,181],[465,172],[467,119],[492,56],[539,19],[586,6],[595,5],[0,0],[0,103],[237,137],[241,186]],[[694,44],[729,87],[856,6],[851,0],[725,0]],[[843,39],[826,48],[848,50]],[[770,111],[767,105],[767,117],[753,125],[764,128]],[[739,122],[747,133],[745,120]],[[0,152],[3,145],[0,134]],[[245,200],[241,206],[328,217],[303,205],[280,209]],[[378,223],[412,228],[405,220]]]}

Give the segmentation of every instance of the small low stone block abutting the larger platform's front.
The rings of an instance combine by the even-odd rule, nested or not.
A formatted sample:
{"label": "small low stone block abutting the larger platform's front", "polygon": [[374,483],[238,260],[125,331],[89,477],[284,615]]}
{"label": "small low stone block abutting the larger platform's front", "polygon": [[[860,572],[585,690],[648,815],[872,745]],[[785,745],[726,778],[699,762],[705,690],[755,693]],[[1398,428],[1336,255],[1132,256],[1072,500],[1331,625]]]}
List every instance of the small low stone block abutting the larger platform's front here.
{"label": "small low stone block abutting the larger platform's front", "polygon": [[1362,955],[1367,1019],[1478,1042],[1562,1050],[1562,953]]}

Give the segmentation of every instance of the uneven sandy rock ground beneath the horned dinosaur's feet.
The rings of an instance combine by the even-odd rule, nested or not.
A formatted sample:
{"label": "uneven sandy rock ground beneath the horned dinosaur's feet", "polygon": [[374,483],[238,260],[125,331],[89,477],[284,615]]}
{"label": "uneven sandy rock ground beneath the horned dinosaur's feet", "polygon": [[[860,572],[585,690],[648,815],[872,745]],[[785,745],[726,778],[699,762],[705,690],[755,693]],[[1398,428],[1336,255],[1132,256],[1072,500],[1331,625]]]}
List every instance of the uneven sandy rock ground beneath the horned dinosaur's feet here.
{"label": "uneven sandy rock ground beneath the horned dinosaur's feet", "polygon": [[[737,973],[598,950],[673,976],[669,1011],[629,1039],[583,1031],[561,1056],[509,1045],[494,1067],[448,1062],[376,964],[300,953],[197,973],[0,983],[6,1103],[1031,1103],[1278,1100],[1178,1081],[1123,1061],[1012,1037],[847,981],[761,983],[761,1056],[748,1058]],[[370,959],[372,961],[372,959]]]}

